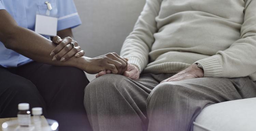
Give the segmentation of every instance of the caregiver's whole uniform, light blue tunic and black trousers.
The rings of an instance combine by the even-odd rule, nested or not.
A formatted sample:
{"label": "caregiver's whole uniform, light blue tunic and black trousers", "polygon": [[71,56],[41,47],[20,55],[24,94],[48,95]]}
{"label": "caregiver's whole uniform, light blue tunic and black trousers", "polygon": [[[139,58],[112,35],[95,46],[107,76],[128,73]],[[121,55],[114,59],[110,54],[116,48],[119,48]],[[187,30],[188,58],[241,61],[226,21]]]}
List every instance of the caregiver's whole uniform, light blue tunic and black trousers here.
{"label": "caregiver's whole uniform, light blue tunic and black trousers", "polygon": [[[58,18],[57,31],[81,24],[73,0],[0,0],[0,10],[34,31],[36,15],[46,15],[46,1],[52,5],[50,16]],[[0,118],[17,117],[17,105],[27,102],[30,109],[42,107],[46,118],[57,120],[60,131],[90,130],[83,105],[88,82],[79,69],[35,62],[0,41]]]}

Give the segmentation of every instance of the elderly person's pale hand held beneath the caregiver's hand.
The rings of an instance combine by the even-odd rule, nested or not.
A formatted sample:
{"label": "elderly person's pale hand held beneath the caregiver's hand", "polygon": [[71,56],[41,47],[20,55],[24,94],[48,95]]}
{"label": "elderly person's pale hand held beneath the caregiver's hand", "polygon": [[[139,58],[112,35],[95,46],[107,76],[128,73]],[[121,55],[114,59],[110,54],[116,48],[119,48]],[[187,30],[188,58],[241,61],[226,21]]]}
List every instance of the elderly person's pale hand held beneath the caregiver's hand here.
{"label": "elderly person's pale hand held beneath the caregiver's hand", "polygon": [[[127,59],[128,61],[128,59]],[[104,70],[99,72],[99,74],[96,75],[96,78],[105,74],[110,74],[112,73],[109,70]],[[124,76],[130,78],[130,79],[134,79],[134,80],[138,80],[140,77],[140,71],[139,68],[137,66],[134,66],[133,64],[127,64],[127,70],[124,72],[123,74]]]}

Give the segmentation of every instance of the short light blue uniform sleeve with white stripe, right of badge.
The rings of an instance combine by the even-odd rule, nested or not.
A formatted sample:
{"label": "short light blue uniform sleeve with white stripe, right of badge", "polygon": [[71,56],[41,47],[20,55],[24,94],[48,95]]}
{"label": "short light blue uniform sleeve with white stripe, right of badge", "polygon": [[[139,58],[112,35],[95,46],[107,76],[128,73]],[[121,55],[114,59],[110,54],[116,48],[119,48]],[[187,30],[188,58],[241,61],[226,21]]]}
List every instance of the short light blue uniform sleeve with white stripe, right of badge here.
{"label": "short light blue uniform sleeve with white stripe, right of badge", "polygon": [[74,28],[82,24],[73,0],[57,0],[57,8],[58,31]]}

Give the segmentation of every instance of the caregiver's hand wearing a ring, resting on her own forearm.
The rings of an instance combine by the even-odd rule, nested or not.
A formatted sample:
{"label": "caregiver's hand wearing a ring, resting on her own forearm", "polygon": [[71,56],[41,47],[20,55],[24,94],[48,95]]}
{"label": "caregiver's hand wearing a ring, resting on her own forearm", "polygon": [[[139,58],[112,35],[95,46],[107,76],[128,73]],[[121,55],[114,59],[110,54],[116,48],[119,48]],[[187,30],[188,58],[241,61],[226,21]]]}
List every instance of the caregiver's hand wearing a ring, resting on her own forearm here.
{"label": "caregiver's hand wearing a ring, resting on her own forearm", "polygon": [[[61,39],[59,36],[55,36],[53,37],[53,42],[58,44],[50,54],[51,56],[53,56],[53,61],[60,60],[64,62],[73,56],[84,56],[84,51],[81,50],[81,47],[78,45],[78,43],[74,41],[71,37]],[[73,43],[74,47],[71,43]]]}

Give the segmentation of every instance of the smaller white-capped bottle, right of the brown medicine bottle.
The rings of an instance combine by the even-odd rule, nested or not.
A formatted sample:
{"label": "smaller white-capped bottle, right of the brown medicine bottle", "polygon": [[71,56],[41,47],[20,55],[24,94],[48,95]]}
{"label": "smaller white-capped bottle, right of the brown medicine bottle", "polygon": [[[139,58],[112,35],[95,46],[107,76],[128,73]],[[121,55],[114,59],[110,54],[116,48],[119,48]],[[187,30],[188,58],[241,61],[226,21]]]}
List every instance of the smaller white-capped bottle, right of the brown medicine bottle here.
{"label": "smaller white-capped bottle, right of the brown medicine bottle", "polygon": [[37,130],[37,131],[41,131],[41,118],[40,117],[42,114],[43,114],[43,111],[42,111],[41,107],[32,108],[34,126],[35,126],[35,130]]}

